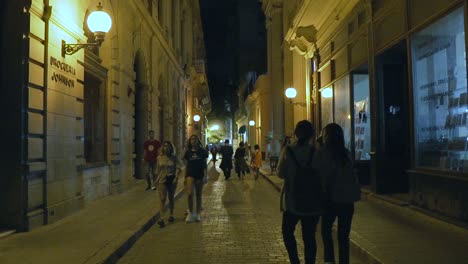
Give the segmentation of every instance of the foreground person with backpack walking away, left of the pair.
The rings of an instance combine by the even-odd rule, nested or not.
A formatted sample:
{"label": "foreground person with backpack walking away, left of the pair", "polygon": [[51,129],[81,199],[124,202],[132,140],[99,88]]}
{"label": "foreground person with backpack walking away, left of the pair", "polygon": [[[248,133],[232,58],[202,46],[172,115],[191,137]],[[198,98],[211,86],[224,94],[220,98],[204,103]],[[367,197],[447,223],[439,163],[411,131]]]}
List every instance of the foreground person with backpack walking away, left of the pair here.
{"label": "foreground person with backpack walking away, left of the pair", "polygon": [[312,170],[314,126],[307,120],[300,121],[294,134],[297,142],[283,148],[278,164],[278,176],[284,179],[282,232],[290,262],[300,263],[294,231],[301,221],[305,263],[310,264],[315,263],[315,231],[322,213],[319,199],[322,186],[318,173]]}

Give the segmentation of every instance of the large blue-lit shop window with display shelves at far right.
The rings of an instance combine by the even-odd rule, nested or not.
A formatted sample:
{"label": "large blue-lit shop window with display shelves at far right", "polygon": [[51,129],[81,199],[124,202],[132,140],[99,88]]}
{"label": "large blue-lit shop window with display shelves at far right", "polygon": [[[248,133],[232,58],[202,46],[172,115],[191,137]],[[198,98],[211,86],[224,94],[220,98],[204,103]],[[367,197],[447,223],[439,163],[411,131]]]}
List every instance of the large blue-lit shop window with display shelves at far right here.
{"label": "large blue-lit shop window with display shelves at far right", "polygon": [[417,167],[468,172],[463,8],[411,38]]}

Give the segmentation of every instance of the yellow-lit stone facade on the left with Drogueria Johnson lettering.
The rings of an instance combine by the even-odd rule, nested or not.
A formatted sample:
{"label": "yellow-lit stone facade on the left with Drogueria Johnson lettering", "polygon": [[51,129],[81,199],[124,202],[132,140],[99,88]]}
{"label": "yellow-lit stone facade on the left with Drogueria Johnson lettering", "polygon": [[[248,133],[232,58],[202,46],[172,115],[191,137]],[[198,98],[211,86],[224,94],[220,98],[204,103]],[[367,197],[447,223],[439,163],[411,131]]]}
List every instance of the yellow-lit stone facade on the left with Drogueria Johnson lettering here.
{"label": "yellow-lit stone facade on the left with Drogueria Johnson lettering", "polygon": [[[63,54],[95,41],[86,19],[98,2],[113,22],[102,45]],[[189,126],[211,105],[198,1],[12,0],[1,20],[0,228],[52,223],[131,188],[148,130],[179,150],[203,131]]]}

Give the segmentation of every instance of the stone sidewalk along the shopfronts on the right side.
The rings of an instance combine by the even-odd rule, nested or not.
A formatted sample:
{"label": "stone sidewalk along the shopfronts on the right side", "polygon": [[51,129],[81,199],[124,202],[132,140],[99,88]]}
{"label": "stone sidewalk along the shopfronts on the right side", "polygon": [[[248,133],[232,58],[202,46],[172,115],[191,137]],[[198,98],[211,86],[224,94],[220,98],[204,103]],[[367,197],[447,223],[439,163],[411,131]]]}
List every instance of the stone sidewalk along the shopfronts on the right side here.
{"label": "stone sidewalk along the shopfronts on the right side", "polygon": [[[267,162],[264,162],[267,163]],[[283,181],[264,165],[262,176],[278,191]],[[468,263],[468,230],[375,198],[363,190],[355,204],[351,251],[367,263]]]}

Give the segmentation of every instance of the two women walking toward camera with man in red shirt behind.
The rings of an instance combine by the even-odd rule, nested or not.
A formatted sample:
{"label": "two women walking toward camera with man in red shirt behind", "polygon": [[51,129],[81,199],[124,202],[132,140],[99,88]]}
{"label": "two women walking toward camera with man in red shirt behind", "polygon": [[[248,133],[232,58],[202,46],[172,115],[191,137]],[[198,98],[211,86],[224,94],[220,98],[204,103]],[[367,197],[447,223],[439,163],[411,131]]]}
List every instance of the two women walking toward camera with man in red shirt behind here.
{"label": "two women walking toward camera with man in red shirt behind", "polygon": [[[203,185],[208,181],[207,158],[208,152],[202,147],[198,136],[192,135],[181,156],[177,156],[172,142],[164,141],[162,144],[154,139],[154,131],[150,130],[149,139],[143,143],[143,161],[145,162],[146,190],[152,188],[158,190],[160,218],[158,225],[162,228],[166,225],[166,201],[169,200],[168,222],[173,222],[174,195],[177,183],[181,178],[185,167],[184,185],[187,193],[188,210],[185,221],[187,223],[200,222],[202,220],[202,191]],[[194,206],[194,200],[196,206]]]}

